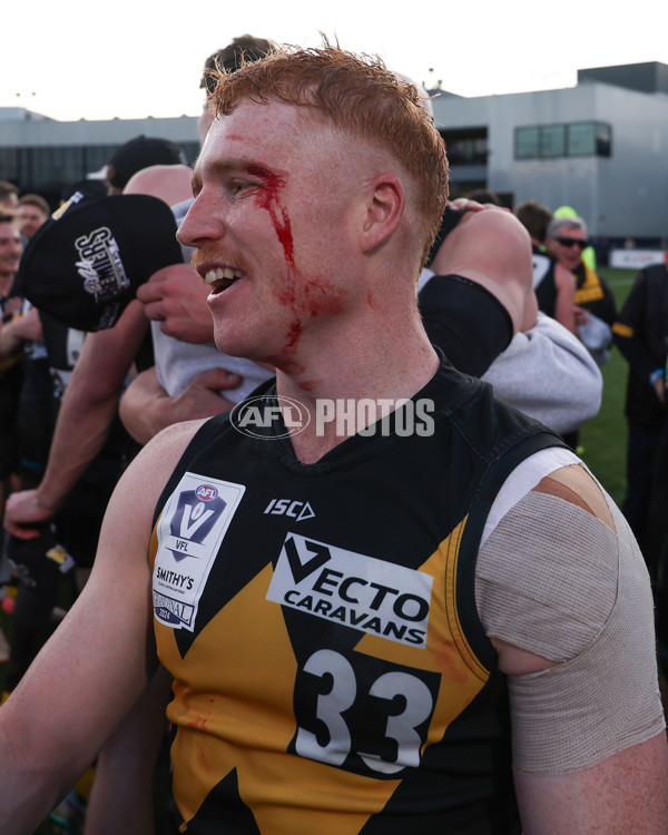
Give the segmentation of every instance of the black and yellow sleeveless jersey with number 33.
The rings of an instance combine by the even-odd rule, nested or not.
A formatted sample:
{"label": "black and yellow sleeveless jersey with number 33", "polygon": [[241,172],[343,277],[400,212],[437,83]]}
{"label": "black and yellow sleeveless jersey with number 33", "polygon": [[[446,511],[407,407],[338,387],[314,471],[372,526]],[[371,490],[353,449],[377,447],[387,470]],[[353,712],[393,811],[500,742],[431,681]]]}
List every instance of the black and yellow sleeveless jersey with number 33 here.
{"label": "black and yellow sleeveless jersey with number 33", "polygon": [[475,558],[507,475],[560,440],[446,362],[315,464],[295,415],[249,420],[275,404],[207,422],[158,504],[174,832],[519,833]]}

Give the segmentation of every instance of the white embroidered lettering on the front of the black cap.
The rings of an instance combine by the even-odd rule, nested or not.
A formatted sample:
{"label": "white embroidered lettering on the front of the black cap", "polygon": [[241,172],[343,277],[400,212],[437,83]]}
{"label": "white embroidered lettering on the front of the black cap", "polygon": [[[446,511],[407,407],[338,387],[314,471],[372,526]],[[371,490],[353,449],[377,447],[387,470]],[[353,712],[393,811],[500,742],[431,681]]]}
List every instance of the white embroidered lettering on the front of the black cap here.
{"label": "white embroidered lettering on the front of the black cap", "polygon": [[95,296],[96,304],[114,299],[130,286],[118,243],[107,226],[94,229],[75,240],[79,255],[77,272],[84,278],[84,289]]}

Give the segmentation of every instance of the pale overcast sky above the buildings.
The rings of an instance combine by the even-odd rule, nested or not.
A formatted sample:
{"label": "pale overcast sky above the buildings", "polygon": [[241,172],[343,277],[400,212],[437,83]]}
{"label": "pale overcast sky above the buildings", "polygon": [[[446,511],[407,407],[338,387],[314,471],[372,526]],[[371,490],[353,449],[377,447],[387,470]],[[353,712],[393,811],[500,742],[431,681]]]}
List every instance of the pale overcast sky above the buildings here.
{"label": "pale overcast sky above the buildings", "polygon": [[623,14],[600,0],[425,0],[401,14],[364,0],[6,6],[0,107],[62,120],[196,115],[204,59],[244,32],[316,46],[323,31],[462,96],[570,87],[578,68],[668,63],[666,0],[635,0]]}

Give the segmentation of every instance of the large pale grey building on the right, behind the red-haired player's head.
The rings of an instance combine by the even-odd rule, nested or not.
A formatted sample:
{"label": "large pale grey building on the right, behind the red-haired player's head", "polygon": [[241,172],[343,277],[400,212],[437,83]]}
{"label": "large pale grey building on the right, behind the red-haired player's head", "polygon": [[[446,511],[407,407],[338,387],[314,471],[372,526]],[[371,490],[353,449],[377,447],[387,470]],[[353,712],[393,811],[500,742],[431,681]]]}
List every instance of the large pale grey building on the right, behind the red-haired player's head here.
{"label": "large pale grey building on the right, behind the red-haired player's head", "polygon": [[668,238],[668,66],[578,72],[569,89],[433,100],[452,194],[569,205],[597,237]]}

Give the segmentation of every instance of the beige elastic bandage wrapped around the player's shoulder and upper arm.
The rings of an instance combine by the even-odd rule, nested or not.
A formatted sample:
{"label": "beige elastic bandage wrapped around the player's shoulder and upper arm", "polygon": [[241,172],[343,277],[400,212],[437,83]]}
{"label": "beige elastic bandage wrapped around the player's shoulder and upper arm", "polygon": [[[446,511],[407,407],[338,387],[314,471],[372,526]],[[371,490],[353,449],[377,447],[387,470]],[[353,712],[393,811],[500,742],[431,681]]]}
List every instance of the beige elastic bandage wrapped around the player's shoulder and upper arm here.
{"label": "beige elastic bandage wrapped around the player's shoulder and upper arm", "polygon": [[574,481],[552,473],[520,499],[481,547],[475,577],[488,636],[558,662],[508,677],[517,769],[589,768],[660,733],[645,562],[584,470]]}

